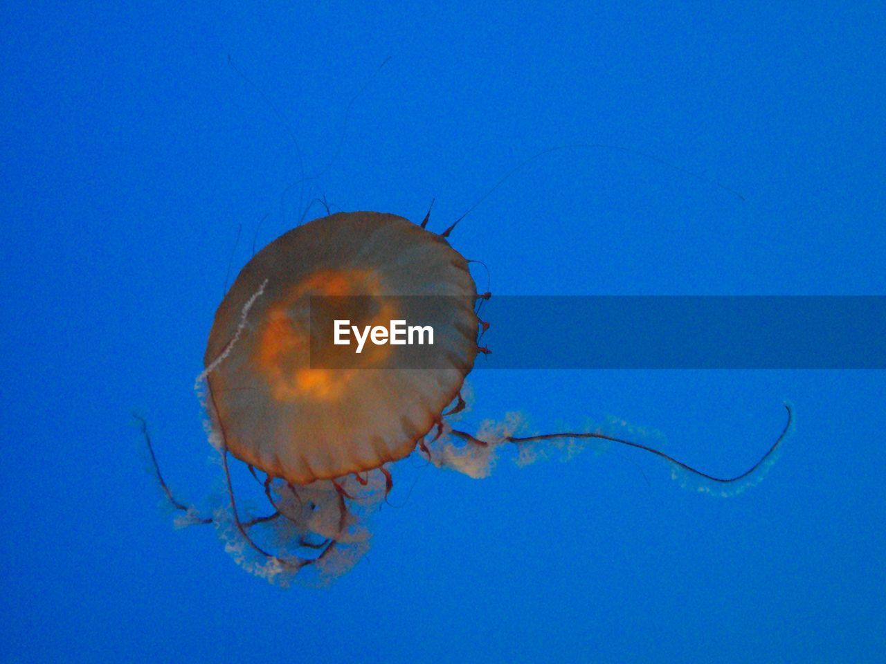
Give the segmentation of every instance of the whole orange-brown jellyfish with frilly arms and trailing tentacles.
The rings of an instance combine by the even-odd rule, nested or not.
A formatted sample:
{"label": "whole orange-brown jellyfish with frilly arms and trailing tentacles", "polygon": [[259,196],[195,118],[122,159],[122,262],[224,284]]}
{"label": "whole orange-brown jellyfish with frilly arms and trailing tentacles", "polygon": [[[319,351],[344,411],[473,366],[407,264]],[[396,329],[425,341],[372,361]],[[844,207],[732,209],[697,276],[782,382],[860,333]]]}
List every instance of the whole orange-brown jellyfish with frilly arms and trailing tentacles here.
{"label": "whole orange-brown jellyfish with frilly arms and trailing tentacles", "polygon": [[[438,234],[428,230],[429,217],[416,224],[381,212],[330,214],[281,235],[243,267],[215,313],[197,381],[227,504],[205,516],[175,498],[141,421],[180,525],[214,524],[241,566],[286,585],[305,570],[330,580],[360,560],[369,516],[392,490],[393,465],[414,453],[474,478],[489,475],[504,446],[516,446],[525,462],[540,446],[590,440],[641,449],[715,486],[741,483],[771,465],[789,431],[788,405],[788,423],[766,454],[727,478],[601,430],[527,434],[515,413],[473,432],[458,428],[465,378],[478,355],[490,352],[481,345],[489,323],[480,319],[490,293],[478,293],[469,261],[448,241],[458,221]],[[343,297],[349,311],[338,314],[348,319],[436,320],[441,361],[400,367],[389,346],[375,345],[356,364],[317,366],[316,297]],[[238,504],[231,459],[260,485],[266,512],[248,514]]]}

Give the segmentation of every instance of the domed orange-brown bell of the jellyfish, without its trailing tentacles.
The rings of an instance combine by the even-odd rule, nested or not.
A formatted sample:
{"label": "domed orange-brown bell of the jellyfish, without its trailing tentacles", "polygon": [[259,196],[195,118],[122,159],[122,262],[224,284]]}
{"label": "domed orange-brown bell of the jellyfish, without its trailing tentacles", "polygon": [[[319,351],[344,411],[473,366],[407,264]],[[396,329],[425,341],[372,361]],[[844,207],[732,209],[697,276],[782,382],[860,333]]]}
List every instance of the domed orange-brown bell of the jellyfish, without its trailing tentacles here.
{"label": "domed orange-brown bell of the jellyfish, without its trailing tentacles", "polygon": [[[377,346],[360,368],[312,368],[312,296],[375,296],[378,322],[439,321],[446,366],[386,368]],[[342,212],[292,229],[246,264],[215,313],[204,357],[214,433],[237,459],[299,485],[408,456],[473,367],[476,298],[468,261],[402,217]],[[373,368],[385,370],[363,370]]]}

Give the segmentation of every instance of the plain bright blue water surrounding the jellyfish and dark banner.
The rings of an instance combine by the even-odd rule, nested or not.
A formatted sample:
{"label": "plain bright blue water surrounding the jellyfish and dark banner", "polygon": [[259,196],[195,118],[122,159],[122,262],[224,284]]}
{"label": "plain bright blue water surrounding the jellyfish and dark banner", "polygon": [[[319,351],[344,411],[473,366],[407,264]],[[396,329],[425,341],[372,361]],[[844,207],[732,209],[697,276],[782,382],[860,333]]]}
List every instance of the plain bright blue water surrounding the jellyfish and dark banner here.
{"label": "plain bright blue water surrounding the jellyfish and dark banner", "polygon": [[[495,293],[886,293],[882,3],[13,0],[0,18],[0,659],[882,661],[882,372],[476,372],[472,426],[613,414],[714,473],[766,449],[784,398],[797,430],[727,499],[626,451],[482,482],[407,460],[368,557],[319,591],[172,529],[130,417],[206,505],[220,470],[191,386],[259,220],[261,245],[311,197],[412,220],[436,197],[442,230],[568,143],[674,167],[533,161],[452,236]],[[322,174],[300,204],[299,153]]]}

